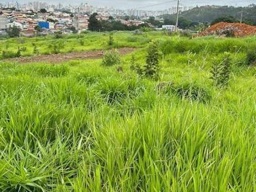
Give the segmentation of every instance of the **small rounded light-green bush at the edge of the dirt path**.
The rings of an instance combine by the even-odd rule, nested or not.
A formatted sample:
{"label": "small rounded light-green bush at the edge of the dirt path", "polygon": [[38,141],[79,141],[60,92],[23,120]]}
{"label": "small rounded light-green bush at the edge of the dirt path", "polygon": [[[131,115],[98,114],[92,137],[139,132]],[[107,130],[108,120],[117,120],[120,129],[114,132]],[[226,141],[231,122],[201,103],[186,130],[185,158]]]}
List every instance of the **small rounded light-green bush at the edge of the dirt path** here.
{"label": "small rounded light-green bush at the edge of the dirt path", "polygon": [[116,49],[107,51],[104,54],[104,58],[102,60],[102,65],[104,66],[113,66],[116,64],[121,64],[120,54]]}

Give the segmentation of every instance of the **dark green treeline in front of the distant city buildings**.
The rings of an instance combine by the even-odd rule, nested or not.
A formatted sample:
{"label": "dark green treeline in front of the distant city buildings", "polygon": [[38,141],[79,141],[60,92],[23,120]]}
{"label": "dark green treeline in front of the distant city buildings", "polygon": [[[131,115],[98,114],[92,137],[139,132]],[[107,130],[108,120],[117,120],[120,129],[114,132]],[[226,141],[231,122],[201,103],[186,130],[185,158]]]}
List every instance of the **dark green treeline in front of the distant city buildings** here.
{"label": "dark green treeline in front of the distant city buildings", "polygon": [[112,18],[111,16],[108,20],[98,20],[96,18],[97,15],[97,13],[94,13],[90,16],[88,28],[91,31],[132,31],[140,29],[142,27],[149,27],[148,24],[140,24],[138,26],[127,26],[125,24],[122,24],[121,21],[114,20],[114,18]]}

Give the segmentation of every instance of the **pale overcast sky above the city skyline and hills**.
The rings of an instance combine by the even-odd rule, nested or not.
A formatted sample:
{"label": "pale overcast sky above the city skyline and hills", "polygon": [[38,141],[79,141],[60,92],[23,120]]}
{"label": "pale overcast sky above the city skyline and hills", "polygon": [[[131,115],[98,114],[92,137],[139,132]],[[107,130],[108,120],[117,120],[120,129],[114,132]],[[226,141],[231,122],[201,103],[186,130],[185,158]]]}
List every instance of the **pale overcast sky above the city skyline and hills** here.
{"label": "pale overcast sky above the city skyline and hills", "polygon": [[[0,0],[0,2],[7,2],[12,0]],[[13,0],[16,2],[16,0]],[[18,0],[19,3],[26,3],[36,0]],[[158,6],[152,6],[143,8],[145,10],[164,10],[168,7],[176,5],[177,0],[40,0],[47,3],[62,3],[62,4],[80,4],[81,2],[87,2],[93,6],[114,6],[116,8],[128,9],[128,8],[140,8],[144,6],[150,6],[154,4],[161,4],[168,2],[168,4],[162,4]],[[172,2],[171,2],[172,1]],[[256,0],[180,0],[181,6],[202,6],[207,4],[214,5],[232,5],[232,6],[247,6],[249,4],[256,4]]]}

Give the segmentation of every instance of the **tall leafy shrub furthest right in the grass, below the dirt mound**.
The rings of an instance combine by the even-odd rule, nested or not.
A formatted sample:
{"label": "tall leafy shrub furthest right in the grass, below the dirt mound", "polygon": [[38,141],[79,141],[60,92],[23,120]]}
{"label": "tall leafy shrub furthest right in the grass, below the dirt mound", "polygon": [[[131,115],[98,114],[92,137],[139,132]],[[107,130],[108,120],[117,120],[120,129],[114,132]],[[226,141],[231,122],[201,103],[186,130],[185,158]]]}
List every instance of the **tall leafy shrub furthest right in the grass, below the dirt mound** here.
{"label": "tall leafy shrub furthest right in the grass, below the dirt mound", "polygon": [[211,78],[214,81],[214,86],[225,86],[228,84],[231,72],[231,60],[230,54],[224,53],[224,55],[219,58],[214,58],[213,66],[210,73]]}

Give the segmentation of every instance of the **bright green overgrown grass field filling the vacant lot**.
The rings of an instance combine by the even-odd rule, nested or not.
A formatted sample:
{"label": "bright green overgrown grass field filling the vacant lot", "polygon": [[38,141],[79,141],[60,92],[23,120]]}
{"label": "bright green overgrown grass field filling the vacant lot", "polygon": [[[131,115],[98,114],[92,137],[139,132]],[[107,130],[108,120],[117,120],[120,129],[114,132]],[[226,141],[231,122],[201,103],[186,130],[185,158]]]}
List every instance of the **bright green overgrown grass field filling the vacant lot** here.
{"label": "bright green overgrown grass field filling the vacant lot", "polygon": [[[78,41],[71,37],[61,39],[61,52]],[[138,75],[130,61],[144,66],[154,38],[157,79]],[[41,53],[57,41],[38,39]],[[83,39],[75,49],[110,48],[108,34]],[[0,191],[255,191],[256,38],[114,39],[113,47],[139,49],[112,66],[0,62]],[[15,51],[18,41],[0,46]]]}

